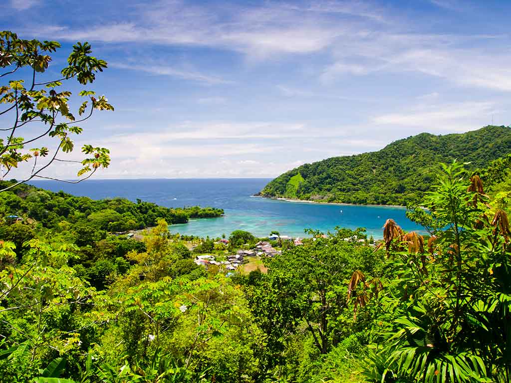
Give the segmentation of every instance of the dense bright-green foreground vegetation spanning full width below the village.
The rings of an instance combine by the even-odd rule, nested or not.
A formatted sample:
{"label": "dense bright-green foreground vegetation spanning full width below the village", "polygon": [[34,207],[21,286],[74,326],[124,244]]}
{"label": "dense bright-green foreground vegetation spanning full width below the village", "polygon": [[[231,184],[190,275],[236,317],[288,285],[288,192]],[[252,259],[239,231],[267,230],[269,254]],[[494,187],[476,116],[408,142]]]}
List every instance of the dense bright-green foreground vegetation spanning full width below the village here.
{"label": "dense bright-green foreground vegetation spanning full width below the village", "polygon": [[437,181],[409,213],[427,236],[388,220],[375,248],[364,229],[310,230],[248,274],[196,265],[197,252],[236,246],[206,238],[190,251],[162,219],[141,241],[89,233],[85,246],[86,231],[69,234],[80,221],[27,238],[29,225],[6,222],[0,381],[507,382],[506,213],[456,162]]}

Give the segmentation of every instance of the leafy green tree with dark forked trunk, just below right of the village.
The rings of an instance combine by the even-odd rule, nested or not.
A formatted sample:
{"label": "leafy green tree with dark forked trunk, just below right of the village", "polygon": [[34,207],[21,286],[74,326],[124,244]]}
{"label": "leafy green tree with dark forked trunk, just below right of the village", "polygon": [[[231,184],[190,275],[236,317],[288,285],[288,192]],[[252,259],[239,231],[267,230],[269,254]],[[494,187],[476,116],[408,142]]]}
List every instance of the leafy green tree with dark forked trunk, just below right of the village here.
{"label": "leafy green tree with dark forked trunk, just below right of the village", "polygon": [[356,233],[339,230],[336,235],[323,238],[319,232],[311,231],[314,241],[292,246],[265,262],[271,283],[290,292],[286,295],[288,307],[300,308],[299,315],[321,354],[330,351],[332,340],[342,327],[337,319],[349,307],[345,281],[351,276],[350,270],[373,273],[381,262],[381,253],[373,253],[358,242],[344,241]]}

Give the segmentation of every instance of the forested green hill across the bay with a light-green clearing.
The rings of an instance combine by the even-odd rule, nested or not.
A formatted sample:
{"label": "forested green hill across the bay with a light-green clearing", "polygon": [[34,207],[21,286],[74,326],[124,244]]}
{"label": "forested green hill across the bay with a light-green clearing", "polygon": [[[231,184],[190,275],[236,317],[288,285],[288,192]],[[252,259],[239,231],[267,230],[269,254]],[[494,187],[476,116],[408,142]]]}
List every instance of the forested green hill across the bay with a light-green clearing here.
{"label": "forested green hill across the bay with a light-green clearing", "polygon": [[422,198],[439,162],[485,167],[511,153],[511,128],[486,126],[462,134],[421,133],[378,152],[306,163],[268,183],[258,194],[320,202],[405,205]]}

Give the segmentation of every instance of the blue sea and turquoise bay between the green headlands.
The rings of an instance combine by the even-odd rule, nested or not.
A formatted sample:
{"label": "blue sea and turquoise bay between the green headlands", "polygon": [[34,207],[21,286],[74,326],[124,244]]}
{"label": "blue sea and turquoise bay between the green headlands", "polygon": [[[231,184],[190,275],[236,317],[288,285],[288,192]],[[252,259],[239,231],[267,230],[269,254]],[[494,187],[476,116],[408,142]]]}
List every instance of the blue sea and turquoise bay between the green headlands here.
{"label": "blue sea and turquoise bay between the green headlands", "polygon": [[138,179],[87,180],[78,184],[34,181],[32,184],[92,199],[124,197],[135,201],[139,198],[167,207],[199,205],[224,209],[224,217],[191,220],[170,227],[171,232],[188,235],[228,236],[241,229],[257,236],[268,235],[272,230],[283,235],[305,236],[307,228],[327,232],[340,226],[365,227],[368,235],[381,238],[382,226],[388,218],[405,230],[420,230],[406,218],[406,210],[399,207],[326,205],[251,197],[269,181],[267,178]]}

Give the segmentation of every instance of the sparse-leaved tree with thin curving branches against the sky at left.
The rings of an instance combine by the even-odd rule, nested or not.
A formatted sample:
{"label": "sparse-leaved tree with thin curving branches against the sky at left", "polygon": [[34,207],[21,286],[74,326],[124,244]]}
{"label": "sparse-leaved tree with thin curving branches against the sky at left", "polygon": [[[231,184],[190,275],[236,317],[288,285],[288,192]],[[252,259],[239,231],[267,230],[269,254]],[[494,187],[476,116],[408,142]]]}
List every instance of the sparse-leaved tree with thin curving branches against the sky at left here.
{"label": "sparse-leaved tree with thin curving branches against the sky at left", "polygon": [[[107,67],[106,61],[91,56],[91,47],[87,42],[73,45],[73,52],[67,59],[68,66],[61,70],[61,78],[37,82],[36,75],[44,73],[52,61],[49,53],[56,52],[59,47],[57,41],[24,40],[19,39],[13,32],[0,32],[0,68],[6,70],[0,73],[0,78],[7,78],[15,73],[30,77],[29,87],[24,85],[25,81],[22,79],[10,80],[4,85],[0,83],[0,104],[10,105],[0,110],[0,115],[12,116],[13,121],[12,125],[2,129],[7,132],[5,139],[0,138],[0,180],[20,163],[33,163],[29,166],[29,174],[21,181],[0,189],[0,192],[35,177],[54,179],[44,176],[43,171],[55,161],[80,164],[77,176],[85,177],[77,181],[64,181],[74,183],[89,178],[100,167],[105,168],[110,163],[108,149],[92,145],[82,147],[85,158],[81,161],[66,160],[59,156],[73,151],[72,136],[83,131],[75,124],[90,118],[94,110],[113,110],[104,95],[96,98],[94,91],[82,90],[79,95],[88,97],[89,100],[82,102],[78,108],[78,115],[84,117],[76,119],[69,110],[72,92],[60,89],[64,81],[74,78],[82,85],[92,83],[96,79],[96,73]],[[25,72],[24,68],[27,69]],[[37,131],[33,127],[35,124],[39,124],[40,128],[34,136],[27,138],[20,135],[23,127]],[[48,137],[54,139],[54,148],[36,147],[37,142]]]}

